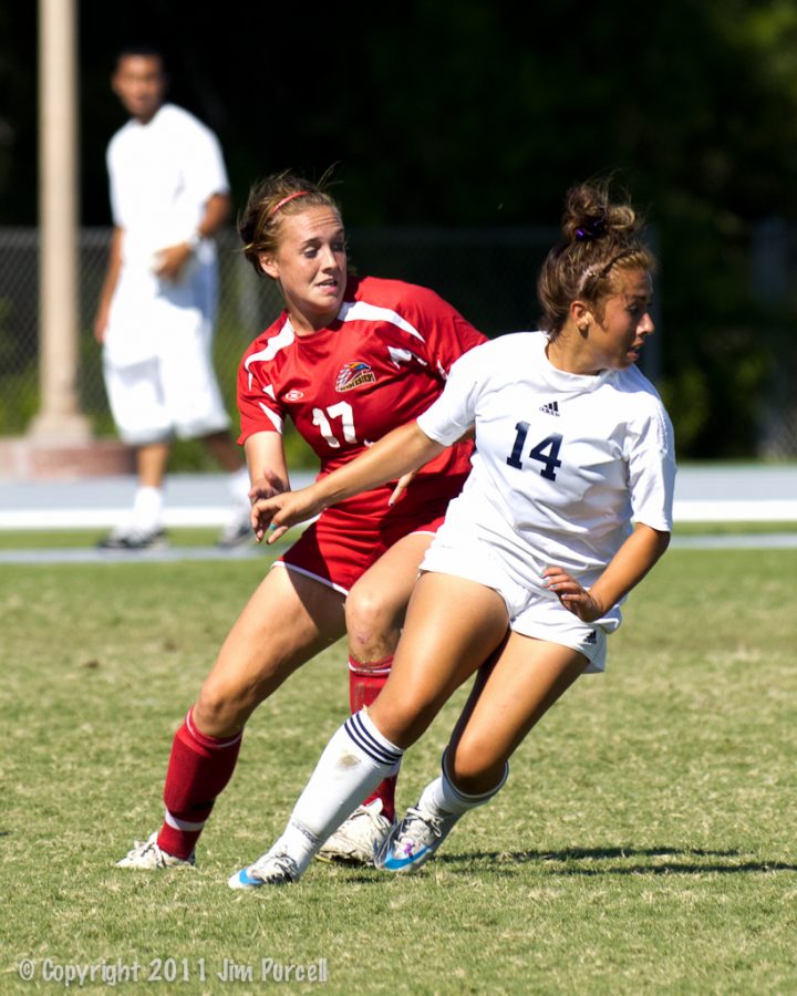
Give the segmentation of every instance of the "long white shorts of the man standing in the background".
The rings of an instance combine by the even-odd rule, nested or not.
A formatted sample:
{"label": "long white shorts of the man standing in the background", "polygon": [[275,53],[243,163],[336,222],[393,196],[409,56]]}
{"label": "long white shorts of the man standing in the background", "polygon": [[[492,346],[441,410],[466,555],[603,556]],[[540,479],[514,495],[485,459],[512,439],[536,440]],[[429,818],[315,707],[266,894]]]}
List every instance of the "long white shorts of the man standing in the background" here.
{"label": "long white shorts of the man standing in the background", "polygon": [[209,436],[229,428],[209,343],[183,338],[180,347],[137,363],[103,359],[105,390],[120,436],[132,446]]}

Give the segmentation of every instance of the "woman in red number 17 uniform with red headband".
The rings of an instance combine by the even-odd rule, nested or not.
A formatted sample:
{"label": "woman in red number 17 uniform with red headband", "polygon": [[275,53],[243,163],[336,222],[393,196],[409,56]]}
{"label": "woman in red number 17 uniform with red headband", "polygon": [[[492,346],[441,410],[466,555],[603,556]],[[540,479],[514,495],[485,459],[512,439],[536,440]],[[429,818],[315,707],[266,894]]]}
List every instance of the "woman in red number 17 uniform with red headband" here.
{"label": "woman in red number 17 uniform with red headband", "polygon": [[[442,393],[477,332],[433,291],[348,273],[345,232],[324,189],[289,173],[250,191],[238,230],[286,309],[247,350],[238,377],[252,499],[288,490],[290,417],[320,476],[353,459]],[[349,634],[350,706],[390,673],[418,564],[469,471],[460,442],[413,475],[325,510],[276,562],[230,630],[175,735],[163,827],[118,864],[194,863],[196,841],[235,769],[246,722],[319,651]],[[354,810],[321,857],[370,863],[395,819],[396,770]]]}

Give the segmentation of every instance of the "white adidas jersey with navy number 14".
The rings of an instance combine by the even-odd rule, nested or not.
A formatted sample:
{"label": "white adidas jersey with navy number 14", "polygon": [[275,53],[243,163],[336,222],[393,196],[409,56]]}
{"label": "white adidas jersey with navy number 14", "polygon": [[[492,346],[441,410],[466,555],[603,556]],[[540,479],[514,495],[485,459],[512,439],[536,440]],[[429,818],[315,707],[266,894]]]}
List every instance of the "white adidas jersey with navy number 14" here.
{"label": "white adidas jersey with navy number 14", "polygon": [[539,579],[556,564],[588,587],[632,519],[672,530],[672,425],[635,366],[566,373],[548,361],[547,341],[518,332],[470,350],[417,423],[445,445],[476,428],[473,470],[446,525],[518,572]]}

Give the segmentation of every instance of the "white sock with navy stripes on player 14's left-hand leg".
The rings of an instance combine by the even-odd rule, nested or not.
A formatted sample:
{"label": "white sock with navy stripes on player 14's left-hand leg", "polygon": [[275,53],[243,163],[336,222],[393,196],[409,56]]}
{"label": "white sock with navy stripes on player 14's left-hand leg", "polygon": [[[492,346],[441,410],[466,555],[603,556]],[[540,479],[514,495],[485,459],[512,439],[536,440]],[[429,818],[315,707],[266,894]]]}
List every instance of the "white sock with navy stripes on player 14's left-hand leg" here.
{"label": "white sock with navy stripes on player 14's left-hand leg", "polygon": [[271,850],[289,854],[301,874],[358,802],[396,774],[403,754],[382,736],[365,709],[350,716],[324,748]]}

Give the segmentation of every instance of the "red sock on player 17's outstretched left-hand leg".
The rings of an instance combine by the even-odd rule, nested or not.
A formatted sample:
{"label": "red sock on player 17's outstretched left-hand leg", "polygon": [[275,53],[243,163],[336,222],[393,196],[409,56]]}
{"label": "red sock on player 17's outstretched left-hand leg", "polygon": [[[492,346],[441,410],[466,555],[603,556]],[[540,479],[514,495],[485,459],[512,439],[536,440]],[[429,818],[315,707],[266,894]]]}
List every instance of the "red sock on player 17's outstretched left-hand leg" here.
{"label": "red sock on player 17's outstretched left-hand leg", "polygon": [[166,817],[157,838],[162,850],[176,858],[194,852],[216,797],[232,777],[242,736],[208,737],[188,713],[175,734],[166,771]]}

